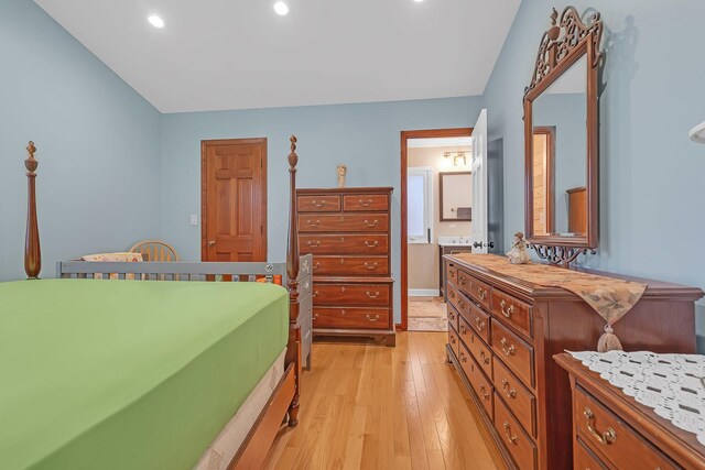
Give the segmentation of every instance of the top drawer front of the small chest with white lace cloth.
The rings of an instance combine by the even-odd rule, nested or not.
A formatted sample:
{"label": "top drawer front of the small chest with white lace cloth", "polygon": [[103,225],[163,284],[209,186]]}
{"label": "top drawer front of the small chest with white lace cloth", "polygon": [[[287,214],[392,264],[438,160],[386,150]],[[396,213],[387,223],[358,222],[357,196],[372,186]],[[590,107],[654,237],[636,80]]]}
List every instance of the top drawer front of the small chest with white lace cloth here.
{"label": "top drawer front of the small chest with white lace cloth", "polygon": [[575,387],[573,425],[577,435],[595,452],[619,469],[676,468],[636,430],[589,395]]}

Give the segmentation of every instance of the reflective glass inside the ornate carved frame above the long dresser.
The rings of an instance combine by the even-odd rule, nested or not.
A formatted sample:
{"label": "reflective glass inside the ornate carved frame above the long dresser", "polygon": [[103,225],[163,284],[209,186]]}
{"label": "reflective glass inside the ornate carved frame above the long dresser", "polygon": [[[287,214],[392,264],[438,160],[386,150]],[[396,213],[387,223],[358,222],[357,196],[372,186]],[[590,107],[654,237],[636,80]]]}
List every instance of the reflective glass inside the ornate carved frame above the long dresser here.
{"label": "reflective glass inside the ornate carved frame above the long dresser", "polygon": [[587,56],[532,105],[533,234],[587,233]]}

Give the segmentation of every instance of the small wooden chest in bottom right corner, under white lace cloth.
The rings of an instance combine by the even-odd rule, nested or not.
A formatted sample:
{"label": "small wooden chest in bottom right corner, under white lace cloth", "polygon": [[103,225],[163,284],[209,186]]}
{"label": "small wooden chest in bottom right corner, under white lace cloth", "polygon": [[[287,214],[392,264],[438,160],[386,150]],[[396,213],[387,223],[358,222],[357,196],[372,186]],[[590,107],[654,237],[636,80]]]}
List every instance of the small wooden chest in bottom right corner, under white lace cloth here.
{"label": "small wooden chest in bottom right corner, under white lace cloth", "polygon": [[573,468],[703,469],[705,446],[567,353],[556,362],[573,390]]}

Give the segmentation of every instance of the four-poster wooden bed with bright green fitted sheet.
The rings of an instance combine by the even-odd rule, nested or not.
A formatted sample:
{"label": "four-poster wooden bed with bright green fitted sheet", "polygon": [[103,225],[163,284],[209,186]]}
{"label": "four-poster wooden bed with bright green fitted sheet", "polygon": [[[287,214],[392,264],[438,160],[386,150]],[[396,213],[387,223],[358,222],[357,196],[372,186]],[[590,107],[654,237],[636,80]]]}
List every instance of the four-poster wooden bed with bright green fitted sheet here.
{"label": "four-poster wooden bed with bright green fitted sheet", "polygon": [[[294,195],[293,136],[289,161]],[[63,262],[59,278],[0,283],[0,467],[258,468],[282,424],[297,424],[310,258],[295,210],[286,263]],[[90,278],[100,272],[123,281]]]}

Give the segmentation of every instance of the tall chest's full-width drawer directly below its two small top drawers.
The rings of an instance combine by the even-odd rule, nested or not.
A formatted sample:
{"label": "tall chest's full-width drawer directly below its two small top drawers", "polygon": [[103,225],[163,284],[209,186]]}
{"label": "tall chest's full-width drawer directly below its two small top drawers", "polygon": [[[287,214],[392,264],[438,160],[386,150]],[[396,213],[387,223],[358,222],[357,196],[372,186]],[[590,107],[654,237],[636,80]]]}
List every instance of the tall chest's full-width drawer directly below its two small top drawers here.
{"label": "tall chest's full-width drawer directly below its two small top drawers", "polygon": [[308,214],[299,216],[300,232],[387,232],[388,214]]}

